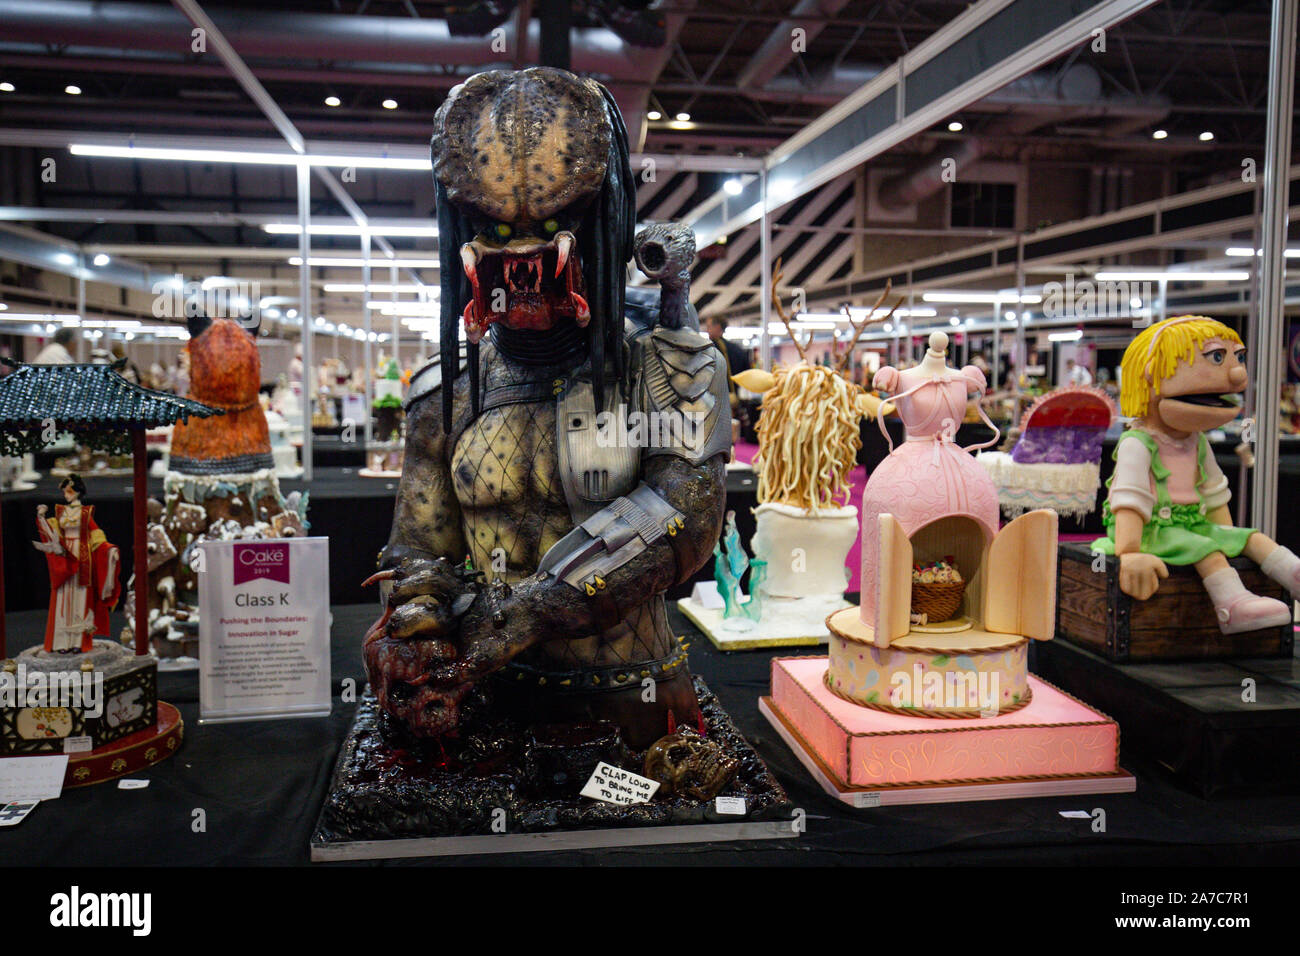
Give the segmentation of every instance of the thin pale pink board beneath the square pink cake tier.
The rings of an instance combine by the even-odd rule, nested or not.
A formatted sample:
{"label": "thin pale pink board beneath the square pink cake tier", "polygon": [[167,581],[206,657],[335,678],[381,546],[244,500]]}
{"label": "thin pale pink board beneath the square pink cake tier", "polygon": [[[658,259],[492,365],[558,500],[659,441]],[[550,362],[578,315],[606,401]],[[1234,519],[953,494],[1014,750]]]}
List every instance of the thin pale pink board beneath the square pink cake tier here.
{"label": "thin pale pink board beneath the square pink cake tier", "polygon": [[1127,770],[1106,777],[1076,777],[1061,780],[1014,780],[1005,783],[919,783],[915,787],[889,787],[885,790],[845,788],[831,778],[822,761],[803,747],[771,697],[758,698],[758,711],[772,724],[785,745],[794,752],[803,769],[827,793],[854,809],[872,806],[907,806],[911,804],[965,804],[978,800],[1023,800],[1041,796],[1079,796],[1082,793],[1132,793],[1138,779]]}

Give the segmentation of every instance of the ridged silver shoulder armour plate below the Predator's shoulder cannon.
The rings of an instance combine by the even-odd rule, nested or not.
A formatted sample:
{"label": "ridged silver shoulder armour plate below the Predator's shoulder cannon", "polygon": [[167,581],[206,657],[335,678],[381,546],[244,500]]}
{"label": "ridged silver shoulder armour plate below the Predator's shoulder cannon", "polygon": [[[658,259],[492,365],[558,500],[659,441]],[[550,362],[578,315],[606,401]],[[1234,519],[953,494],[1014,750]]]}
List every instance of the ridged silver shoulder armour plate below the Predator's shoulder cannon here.
{"label": "ridged silver shoulder armour plate below the Predator's shoulder cannon", "polygon": [[655,328],[642,352],[642,408],[658,412],[646,457],[677,455],[692,464],[731,454],[727,365],[690,329]]}

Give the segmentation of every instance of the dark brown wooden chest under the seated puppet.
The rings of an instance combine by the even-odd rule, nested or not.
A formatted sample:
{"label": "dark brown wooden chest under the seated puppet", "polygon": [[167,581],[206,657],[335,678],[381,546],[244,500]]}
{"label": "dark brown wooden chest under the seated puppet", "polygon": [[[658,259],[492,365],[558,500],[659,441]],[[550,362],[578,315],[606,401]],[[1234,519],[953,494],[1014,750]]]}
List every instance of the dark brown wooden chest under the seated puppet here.
{"label": "dark brown wooden chest under the seated puppet", "polygon": [[[1096,554],[1087,544],[1060,545],[1057,561],[1057,636],[1110,661],[1179,661],[1216,657],[1291,657],[1295,628],[1270,627],[1245,633],[1219,631],[1214,607],[1195,567],[1170,567],[1169,578],[1147,601],[1119,589],[1119,561]],[[1291,605],[1282,585],[1264,576],[1248,558],[1232,558],[1242,583],[1256,594]]]}

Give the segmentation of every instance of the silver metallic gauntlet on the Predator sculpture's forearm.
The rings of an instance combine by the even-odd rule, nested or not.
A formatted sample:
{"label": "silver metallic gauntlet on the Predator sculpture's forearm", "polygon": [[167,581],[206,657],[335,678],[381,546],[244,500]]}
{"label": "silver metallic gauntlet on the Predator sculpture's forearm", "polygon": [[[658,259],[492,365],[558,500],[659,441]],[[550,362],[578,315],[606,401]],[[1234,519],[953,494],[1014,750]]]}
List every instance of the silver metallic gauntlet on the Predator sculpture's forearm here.
{"label": "silver metallic gauntlet on the Predator sculpture's forearm", "polygon": [[610,574],[682,527],[684,515],[649,485],[637,485],[556,541],[537,570],[594,597],[604,591]]}

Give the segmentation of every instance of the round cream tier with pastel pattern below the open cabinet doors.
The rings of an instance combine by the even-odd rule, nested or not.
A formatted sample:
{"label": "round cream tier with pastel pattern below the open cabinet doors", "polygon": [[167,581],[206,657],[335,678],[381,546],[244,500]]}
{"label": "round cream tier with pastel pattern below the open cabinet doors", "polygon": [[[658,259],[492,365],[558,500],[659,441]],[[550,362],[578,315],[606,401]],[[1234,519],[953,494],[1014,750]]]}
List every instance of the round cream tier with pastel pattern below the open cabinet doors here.
{"label": "round cream tier with pastel pattern below the open cabinet doors", "polygon": [[913,717],[992,717],[1030,702],[1027,637],[979,624],[952,633],[913,631],[888,648],[872,643],[857,607],[826,620],[826,685],[853,704]]}

